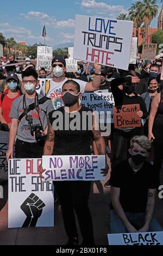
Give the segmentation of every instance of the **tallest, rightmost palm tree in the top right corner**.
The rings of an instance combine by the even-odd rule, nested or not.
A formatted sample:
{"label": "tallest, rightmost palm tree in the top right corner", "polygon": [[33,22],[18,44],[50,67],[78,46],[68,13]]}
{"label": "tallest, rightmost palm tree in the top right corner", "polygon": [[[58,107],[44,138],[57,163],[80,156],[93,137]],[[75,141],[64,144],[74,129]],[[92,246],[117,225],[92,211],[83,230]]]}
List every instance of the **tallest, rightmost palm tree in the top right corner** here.
{"label": "tallest, rightmost palm tree in the top right corner", "polygon": [[148,42],[148,27],[153,20],[153,18],[158,13],[158,5],[156,0],[143,0],[143,5],[141,7],[140,15],[143,23],[146,27],[145,31],[145,44]]}

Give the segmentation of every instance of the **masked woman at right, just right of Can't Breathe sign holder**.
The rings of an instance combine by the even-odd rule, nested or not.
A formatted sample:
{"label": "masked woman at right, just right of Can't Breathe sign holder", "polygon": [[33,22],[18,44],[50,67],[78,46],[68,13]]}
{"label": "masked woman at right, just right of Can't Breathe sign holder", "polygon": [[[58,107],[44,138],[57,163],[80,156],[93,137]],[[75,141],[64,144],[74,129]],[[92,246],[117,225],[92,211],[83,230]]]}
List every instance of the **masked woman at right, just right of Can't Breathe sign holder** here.
{"label": "masked woman at right, just right of Can't Breathe sign holder", "polygon": [[144,119],[144,134],[148,136],[148,119],[149,119],[149,113],[151,111],[151,103],[156,94],[158,94],[158,89],[159,89],[159,78],[149,78],[148,82],[148,92],[143,93],[141,97],[145,101],[146,108],[148,111],[148,117]]}

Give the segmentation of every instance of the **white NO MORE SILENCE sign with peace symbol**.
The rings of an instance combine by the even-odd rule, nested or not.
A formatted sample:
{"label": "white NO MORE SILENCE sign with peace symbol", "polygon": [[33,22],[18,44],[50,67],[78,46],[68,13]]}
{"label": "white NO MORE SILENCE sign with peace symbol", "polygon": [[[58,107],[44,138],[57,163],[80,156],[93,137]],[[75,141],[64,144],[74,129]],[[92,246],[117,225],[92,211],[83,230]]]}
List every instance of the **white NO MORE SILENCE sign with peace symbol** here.
{"label": "white NO MORE SILENCE sign with peace symbol", "polygon": [[105,180],[101,168],[105,167],[104,155],[42,156],[45,180]]}

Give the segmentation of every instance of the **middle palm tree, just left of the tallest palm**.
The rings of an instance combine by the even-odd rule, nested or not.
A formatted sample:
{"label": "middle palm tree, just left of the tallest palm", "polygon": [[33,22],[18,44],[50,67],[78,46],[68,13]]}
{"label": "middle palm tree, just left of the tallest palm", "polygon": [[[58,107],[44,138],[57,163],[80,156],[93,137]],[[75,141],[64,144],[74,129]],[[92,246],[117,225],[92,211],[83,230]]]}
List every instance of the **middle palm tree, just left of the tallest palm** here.
{"label": "middle palm tree, just left of the tallest palm", "polygon": [[142,2],[137,1],[131,5],[129,8],[129,17],[130,20],[134,22],[134,27],[136,28],[136,37],[139,36],[139,27],[142,25],[142,17],[140,15],[142,8]]}

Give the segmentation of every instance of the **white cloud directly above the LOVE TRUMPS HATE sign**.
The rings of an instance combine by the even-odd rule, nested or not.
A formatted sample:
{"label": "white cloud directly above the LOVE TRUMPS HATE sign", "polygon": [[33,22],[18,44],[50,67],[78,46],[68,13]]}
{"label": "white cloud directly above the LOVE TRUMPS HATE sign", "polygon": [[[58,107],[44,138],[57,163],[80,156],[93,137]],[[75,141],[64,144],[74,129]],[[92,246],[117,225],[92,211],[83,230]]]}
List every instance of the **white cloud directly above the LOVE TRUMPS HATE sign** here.
{"label": "white cloud directly above the LOVE TRUMPS HATE sign", "polygon": [[108,17],[117,17],[121,13],[128,13],[123,5],[110,5],[105,2],[96,2],[96,0],[83,0],[80,7],[84,8],[87,13],[106,15]]}

